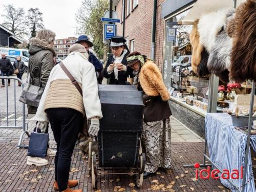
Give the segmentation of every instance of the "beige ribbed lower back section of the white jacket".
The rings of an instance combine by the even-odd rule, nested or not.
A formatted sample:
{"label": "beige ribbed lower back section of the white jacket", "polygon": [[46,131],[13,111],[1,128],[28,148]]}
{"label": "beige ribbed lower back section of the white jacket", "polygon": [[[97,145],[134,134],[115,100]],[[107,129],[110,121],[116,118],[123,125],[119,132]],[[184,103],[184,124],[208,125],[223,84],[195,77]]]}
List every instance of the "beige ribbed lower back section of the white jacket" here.
{"label": "beige ribbed lower back section of the white jacket", "polygon": [[[81,87],[80,83],[79,86]],[[51,82],[44,110],[50,108],[71,108],[85,115],[82,96],[70,79]]]}

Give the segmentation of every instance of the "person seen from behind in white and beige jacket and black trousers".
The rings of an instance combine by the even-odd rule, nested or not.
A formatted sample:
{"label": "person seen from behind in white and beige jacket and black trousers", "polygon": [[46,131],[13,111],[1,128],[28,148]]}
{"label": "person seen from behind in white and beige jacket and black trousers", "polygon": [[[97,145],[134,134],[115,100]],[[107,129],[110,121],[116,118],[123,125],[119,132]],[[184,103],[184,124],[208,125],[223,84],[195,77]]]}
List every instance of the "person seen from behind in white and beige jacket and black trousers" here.
{"label": "person seen from behind in white and beige jacket and black trousers", "polygon": [[59,64],[51,71],[36,112],[37,128],[45,131],[50,122],[57,143],[54,189],[59,191],[82,191],[69,188],[78,184],[76,180],[68,181],[71,157],[84,116],[91,122],[88,133],[92,137],[97,136],[102,118],[97,78],[88,57],[82,45],[74,44],[62,61],[81,87],[82,94]]}

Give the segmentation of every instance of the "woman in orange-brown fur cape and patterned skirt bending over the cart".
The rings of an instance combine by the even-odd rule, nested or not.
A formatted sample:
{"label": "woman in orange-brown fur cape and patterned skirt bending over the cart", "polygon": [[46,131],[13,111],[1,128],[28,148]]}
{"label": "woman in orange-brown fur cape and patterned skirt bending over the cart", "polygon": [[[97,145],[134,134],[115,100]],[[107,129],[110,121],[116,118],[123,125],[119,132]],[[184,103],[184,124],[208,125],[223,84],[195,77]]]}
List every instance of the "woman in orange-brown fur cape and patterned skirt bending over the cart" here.
{"label": "woman in orange-brown fur cape and patterned skirt bending over the cart", "polygon": [[136,74],[134,84],[143,92],[142,142],[146,150],[144,178],[153,176],[158,167],[170,167],[169,93],[155,63],[139,52],[127,56],[127,67]]}

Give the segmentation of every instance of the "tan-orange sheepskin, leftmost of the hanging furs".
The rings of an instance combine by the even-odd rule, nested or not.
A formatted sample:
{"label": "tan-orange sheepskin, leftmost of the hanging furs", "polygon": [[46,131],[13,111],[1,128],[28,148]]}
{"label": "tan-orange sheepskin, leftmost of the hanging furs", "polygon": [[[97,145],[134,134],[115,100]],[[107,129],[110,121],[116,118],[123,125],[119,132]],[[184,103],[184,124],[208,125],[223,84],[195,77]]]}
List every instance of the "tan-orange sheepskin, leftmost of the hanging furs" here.
{"label": "tan-orange sheepskin, leftmost of the hanging furs", "polygon": [[197,72],[197,68],[200,65],[201,62],[201,54],[203,52],[203,46],[202,44],[200,44],[200,40],[199,40],[199,32],[198,32],[198,22],[199,20],[197,19],[196,22],[194,23],[193,29],[190,33],[190,43],[192,46],[192,58],[191,58],[191,66],[192,66],[192,70],[194,72]]}

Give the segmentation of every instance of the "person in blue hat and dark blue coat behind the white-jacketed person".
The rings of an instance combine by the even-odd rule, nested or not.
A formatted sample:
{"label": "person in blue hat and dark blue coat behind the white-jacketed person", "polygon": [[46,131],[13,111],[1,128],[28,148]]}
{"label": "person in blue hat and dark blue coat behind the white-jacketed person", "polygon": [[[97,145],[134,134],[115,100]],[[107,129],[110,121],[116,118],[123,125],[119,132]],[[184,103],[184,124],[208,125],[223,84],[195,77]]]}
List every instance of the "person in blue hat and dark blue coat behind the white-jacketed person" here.
{"label": "person in blue hat and dark blue coat behind the white-jacketed person", "polygon": [[99,59],[95,56],[93,50],[91,49],[93,47],[93,43],[89,40],[88,36],[86,35],[80,35],[75,42],[76,44],[81,44],[88,52],[89,54],[89,62],[91,62],[95,68],[96,76],[98,83],[101,84],[103,80],[103,75],[102,75],[102,69],[103,65],[99,61]]}

